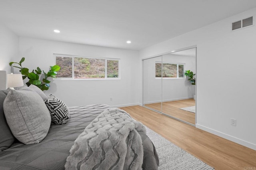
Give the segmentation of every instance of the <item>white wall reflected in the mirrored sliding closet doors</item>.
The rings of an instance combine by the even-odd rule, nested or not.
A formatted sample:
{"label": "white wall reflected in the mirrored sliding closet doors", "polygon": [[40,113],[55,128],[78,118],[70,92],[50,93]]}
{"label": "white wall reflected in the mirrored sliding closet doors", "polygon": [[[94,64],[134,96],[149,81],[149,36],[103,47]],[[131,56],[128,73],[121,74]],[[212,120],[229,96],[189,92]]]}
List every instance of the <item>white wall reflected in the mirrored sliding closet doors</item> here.
{"label": "white wall reflected in the mirrored sliding closet doors", "polygon": [[[167,63],[185,63],[185,70],[190,69],[196,73],[195,56],[184,56],[166,54],[161,57],[154,57],[144,60],[144,104],[163,101],[174,101],[193,98],[195,86],[187,79],[161,79],[155,77],[155,63],[162,61]],[[184,70],[184,71],[185,71]],[[162,90],[161,90],[162,88]],[[161,97],[162,93],[162,97]]]}

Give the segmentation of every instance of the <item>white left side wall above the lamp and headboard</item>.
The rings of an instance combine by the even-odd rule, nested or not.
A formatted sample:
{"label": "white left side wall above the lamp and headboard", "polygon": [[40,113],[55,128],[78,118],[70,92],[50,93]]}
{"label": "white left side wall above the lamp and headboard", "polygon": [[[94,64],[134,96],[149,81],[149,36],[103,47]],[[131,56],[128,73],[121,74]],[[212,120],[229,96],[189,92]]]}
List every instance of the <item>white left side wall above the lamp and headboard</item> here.
{"label": "white left side wall above the lamp and headboard", "polygon": [[18,56],[19,38],[0,23],[0,70],[10,73],[9,62]]}

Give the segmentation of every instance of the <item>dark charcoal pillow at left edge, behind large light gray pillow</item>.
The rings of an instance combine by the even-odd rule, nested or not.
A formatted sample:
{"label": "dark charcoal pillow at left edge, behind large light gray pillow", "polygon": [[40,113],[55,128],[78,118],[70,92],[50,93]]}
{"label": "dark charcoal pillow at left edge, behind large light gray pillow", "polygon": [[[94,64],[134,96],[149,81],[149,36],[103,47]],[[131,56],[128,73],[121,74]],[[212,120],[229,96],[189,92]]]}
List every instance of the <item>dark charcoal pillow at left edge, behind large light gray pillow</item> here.
{"label": "dark charcoal pillow at left edge, behind large light gray pillow", "polygon": [[0,151],[9,148],[14,142],[14,136],[6,122],[3,109],[8,92],[8,90],[0,90]]}

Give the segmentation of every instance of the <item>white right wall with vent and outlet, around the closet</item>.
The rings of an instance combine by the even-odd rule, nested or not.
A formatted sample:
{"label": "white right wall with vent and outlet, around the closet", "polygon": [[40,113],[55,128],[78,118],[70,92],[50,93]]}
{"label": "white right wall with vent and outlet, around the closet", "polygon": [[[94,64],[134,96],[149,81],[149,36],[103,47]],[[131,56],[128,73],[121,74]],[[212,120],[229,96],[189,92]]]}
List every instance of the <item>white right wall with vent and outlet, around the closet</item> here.
{"label": "white right wall with vent and outlet, around the closet", "polygon": [[256,8],[140,50],[142,59],[196,45],[196,127],[254,150],[256,26],[232,32],[231,23],[255,14]]}

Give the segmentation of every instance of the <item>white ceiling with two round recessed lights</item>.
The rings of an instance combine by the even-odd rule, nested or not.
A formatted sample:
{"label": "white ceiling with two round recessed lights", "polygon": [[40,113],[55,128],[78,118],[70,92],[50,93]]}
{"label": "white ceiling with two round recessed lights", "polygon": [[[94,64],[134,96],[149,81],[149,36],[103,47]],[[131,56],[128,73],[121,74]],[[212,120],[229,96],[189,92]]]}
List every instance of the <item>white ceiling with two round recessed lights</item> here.
{"label": "white ceiling with two round recessed lights", "polygon": [[18,36],[139,50],[255,7],[256,0],[0,0],[0,22]]}

